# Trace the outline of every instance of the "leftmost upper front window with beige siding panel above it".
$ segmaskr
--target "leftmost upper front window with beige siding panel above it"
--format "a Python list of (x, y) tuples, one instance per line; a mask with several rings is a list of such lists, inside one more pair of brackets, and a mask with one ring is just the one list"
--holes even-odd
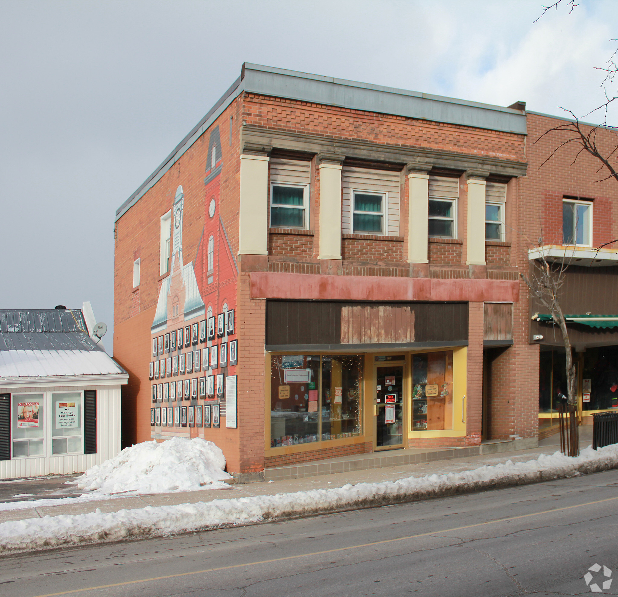
[(310, 163), (271, 158), (270, 227), (309, 228)]

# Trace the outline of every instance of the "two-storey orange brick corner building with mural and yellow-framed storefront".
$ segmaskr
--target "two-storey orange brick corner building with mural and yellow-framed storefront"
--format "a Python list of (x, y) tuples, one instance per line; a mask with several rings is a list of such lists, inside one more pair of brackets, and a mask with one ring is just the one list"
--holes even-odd
[(117, 212), (125, 441), (205, 437), (234, 473), (536, 445), (519, 107), (243, 65)]

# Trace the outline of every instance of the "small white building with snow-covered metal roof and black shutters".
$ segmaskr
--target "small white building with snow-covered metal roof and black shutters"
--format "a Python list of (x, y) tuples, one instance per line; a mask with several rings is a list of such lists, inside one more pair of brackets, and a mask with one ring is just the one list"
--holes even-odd
[(95, 324), (90, 303), (0, 310), (0, 479), (80, 473), (120, 452), (129, 374)]

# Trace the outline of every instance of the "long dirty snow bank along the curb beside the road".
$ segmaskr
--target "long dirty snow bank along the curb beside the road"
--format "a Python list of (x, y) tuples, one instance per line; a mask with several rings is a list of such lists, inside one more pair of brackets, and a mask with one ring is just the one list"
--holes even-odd
[(577, 458), (556, 452), (536, 460), (446, 475), (409, 477), (384, 483), (358, 483), (275, 496), (213, 500), (197, 504), (148, 506), (120, 512), (28, 518), (0, 524), (0, 553), (101, 543), (127, 538), (173, 535), (222, 526), (246, 525), (397, 504), (428, 497), (451, 496), (484, 489), (538, 483), (618, 468), (618, 444), (599, 450), (590, 447)]

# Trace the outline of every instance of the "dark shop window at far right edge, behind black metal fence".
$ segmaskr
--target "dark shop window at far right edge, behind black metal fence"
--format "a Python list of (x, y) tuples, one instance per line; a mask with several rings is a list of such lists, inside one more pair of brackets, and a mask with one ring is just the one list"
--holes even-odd
[(588, 348), (583, 353), (582, 377), (583, 399), (590, 393), (583, 410), (618, 408), (618, 346)]

